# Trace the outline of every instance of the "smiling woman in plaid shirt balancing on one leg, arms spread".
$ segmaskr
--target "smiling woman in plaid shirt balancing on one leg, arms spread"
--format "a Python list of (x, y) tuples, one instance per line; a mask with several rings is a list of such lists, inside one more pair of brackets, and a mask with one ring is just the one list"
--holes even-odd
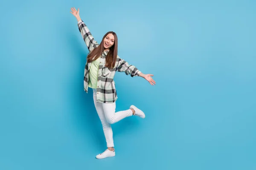
[(113, 132), (111, 124), (119, 122), (128, 116), (139, 116), (145, 118), (143, 111), (131, 105), (128, 110), (116, 112), (116, 88), (113, 80), (116, 71), (125, 72), (131, 77), (143, 77), (151, 85), (156, 84), (152, 79), (152, 74), (143, 74), (134, 65), (121, 59), (117, 55), (117, 36), (113, 31), (107, 32), (102, 38), (101, 43), (96, 42), (85, 23), (81, 20), (76, 8), (70, 11), (77, 21), (79, 31), (89, 50), (87, 62), (84, 69), (84, 91), (88, 93), (88, 87), (93, 89), (93, 101), (99, 119), (102, 122), (107, 147), (103, 153), (96, 156), (103, 159), (115, 156)]

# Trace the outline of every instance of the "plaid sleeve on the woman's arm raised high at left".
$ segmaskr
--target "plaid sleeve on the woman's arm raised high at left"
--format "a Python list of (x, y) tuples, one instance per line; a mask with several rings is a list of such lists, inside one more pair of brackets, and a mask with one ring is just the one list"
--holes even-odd
[(92, 51), (97, 46), (99, 46), (99, 43), (94, 40), (94, 37), (90, 33), (90, 30), (85, 25), (83, 20), (80, 20), (77, 25), (78, 25), (79, 31), (84, 39), (84, 42), (87, 45), (89, 52)]

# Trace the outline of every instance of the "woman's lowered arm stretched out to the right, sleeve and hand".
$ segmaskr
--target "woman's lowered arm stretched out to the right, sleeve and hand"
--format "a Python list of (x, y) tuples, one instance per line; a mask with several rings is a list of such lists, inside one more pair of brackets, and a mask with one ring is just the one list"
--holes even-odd
[(126, 75), (131, 74), (131, 77), (140, 76), (140, 77), (143, 77), (144, 79), (146, 79), (151, 85), (156, 84), (156, 82), (151, 77), (151, 76), (154, 76), (153, 74), (143, 74), (134, 65), (130, 65), (124, 59), (119, 60), (118, 65), (117, 65), (117, 71), (125, 72)]

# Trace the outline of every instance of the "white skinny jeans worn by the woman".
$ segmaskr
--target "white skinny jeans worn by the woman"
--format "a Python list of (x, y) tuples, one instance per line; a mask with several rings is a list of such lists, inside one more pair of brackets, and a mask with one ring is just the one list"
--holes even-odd
[(131, 109), (116, 112), (116, 102), (113, 103), (98, 103), (96, 102), (96, 89), (93, 88), (93, 101), (99, 119), (102, 122), (104, 135), (107, 142), (107, 147), (114, 147), (113, 132), (110, 124), (119, 122), (125, 117), (132, 116)]

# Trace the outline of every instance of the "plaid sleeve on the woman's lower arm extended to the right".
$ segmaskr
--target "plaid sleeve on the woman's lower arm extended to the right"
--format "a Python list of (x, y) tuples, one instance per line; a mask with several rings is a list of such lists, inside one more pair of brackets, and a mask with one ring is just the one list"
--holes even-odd
[(139, 74), (141, 73), (141, 71), (139, 71), (134, 65), (130, 65), (124, 59), (119, 60), (118, 66), (117, 66), (117, 71), (125, 72), (126, 75), (130, 74), (131, 77), (139, 76)]

